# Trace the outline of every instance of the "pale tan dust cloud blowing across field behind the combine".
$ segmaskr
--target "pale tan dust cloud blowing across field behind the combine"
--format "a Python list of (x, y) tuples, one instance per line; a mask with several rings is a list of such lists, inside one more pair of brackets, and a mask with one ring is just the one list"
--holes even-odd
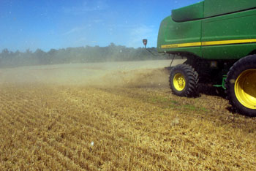
[[(176, 60), (173, 64), (181, 64)], [(170, 60), (23, 66), (0, 69), (0, 84), (56, 84), (70, 86), (167, 85)]]

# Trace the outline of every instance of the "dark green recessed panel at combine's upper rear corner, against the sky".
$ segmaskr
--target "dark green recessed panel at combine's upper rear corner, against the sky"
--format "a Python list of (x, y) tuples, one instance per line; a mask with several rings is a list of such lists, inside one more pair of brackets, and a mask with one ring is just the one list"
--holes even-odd
[(203, 18), (203, 1), (180, 9), (172, 10), (172, 18), (177, 22)]

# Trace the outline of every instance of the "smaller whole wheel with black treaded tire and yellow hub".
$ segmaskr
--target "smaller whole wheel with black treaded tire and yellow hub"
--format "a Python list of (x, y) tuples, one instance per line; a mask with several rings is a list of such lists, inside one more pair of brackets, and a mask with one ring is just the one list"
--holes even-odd
[(197, 96), (198, 74), (192, 66), (179, 64), (170, 70), (170, 89), (177, 96)]

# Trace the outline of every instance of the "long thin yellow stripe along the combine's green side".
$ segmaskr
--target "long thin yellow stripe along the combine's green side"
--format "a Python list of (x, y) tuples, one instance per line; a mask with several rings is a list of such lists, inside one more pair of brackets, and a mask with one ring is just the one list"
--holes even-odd
[(210, 45), (230, 45), (230, 44), (240, 44), (240, 43), (255, 43), (256, 39), (233, 39), (233, 40), (220, 40), (220, 41), (210, 41), (210, 42), (191, 42), (191, 43), (181, 43), (172, 45), (162, 45), (162, 49), (167, 48), (178, 48), (178, 47), (195, 47), (195, 46), (210, 46)]

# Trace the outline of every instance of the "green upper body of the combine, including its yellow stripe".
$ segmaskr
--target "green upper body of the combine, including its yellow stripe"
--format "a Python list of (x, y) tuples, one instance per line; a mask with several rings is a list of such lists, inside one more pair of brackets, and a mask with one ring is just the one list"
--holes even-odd
[(162, 20), (157, 49), (205, 59), (239, 59), (256, 50), (255, 0), (205, 0)]

